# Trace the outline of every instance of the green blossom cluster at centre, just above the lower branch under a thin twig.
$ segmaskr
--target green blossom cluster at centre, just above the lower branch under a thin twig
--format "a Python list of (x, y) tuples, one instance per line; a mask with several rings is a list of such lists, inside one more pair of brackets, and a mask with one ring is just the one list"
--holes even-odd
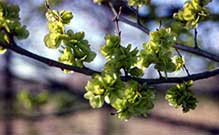
[(126, 75), (141, 77), (143, 70), (137, 67), (138, 49), (131, 50), (131, 44), (127, 47), (121, 45), (120, 37), (116, 35), (107, 35), (106, 44), (100, 48), (100, 52), (106, 57), (104, 73), (116, 73), (120, 75), (122, 69)]

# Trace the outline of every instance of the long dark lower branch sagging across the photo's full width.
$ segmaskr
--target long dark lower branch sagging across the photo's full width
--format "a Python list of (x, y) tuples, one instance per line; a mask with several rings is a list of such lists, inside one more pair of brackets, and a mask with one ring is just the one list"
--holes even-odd
[[(39, 62), (42, 62), (44, 64), (47, 64), (49, 66), (52, 67), (56, 67), (56, 68), (60, 68), (60, 69), (67, 69), (67, 70), (72, 70), (78, 73), (82, 73), (85, 75), (93, 75), (95, 73), (100, 74), (101, 72), (98, 71), (94, 71), (92, 69), (89, 68), (79, 68), (79, 67), (75, 67), (75, 66), (71, 66), (71, 65), (66, 65), (42, 56), (39, 56), (37, 54), (34, 54), (32, 52), (29, 52), (17, 45), (6, 45), (5, 43), (0, 43), (1, 46), (3, 46), (4, 48), (10, 49), (18, 54), (27, 56), (29, 58), (32, 58), (34, 60), (37, 60)], [(147, 84), (161, 84), (161, 83), (180, 83), (183, 81), (189, 81), (189, 80), (201, 80), (201, 79), (205, 79), (205, 78), (209, 78), (215, 75), (219, 74), (219, 69), (215, 69), (213, 71), (206, 71), (206, 72), (202, 72), (202, 73), (198, 73), (198, 74), (193, 74), (190, 76), (186, 76), (186, 77), (168, 77), (168, 78), (159, 78), (159, 79), (143, 79), (143, 78), (135, 78), (135, 77), (131, 77), (131, 76), (122, 76), (121, 79), (123, 81), (128, 81), (128, 80), (135, 80), (138, 81), (139, 83), (147, 83)]]

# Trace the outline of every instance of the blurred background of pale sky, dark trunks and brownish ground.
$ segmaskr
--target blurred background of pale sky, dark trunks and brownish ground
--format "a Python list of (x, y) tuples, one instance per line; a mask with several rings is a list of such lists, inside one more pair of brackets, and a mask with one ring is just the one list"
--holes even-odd
[[(3, 1), (3, 0), (1, 0)], [(31, 52), (57, 60), (59, 52), (48, 49), (43, 43), (47, 33), (44, 0), (4, 0), (20, 6), (20, 16), (27, 25), (30, 36), (17, 44)], [(114, 0), (118, 8), (122, 2)], [(168, 26), (174, 12), (185, 0), (152, 0), (150, 6), (140, 8), (142, 22), (150, 30)], [(102, 70), (104, 57), (99, 47), (104, 44), (106, 33), (114, 33), (113, 14), (107, 5), (98, 6), (92, 0), (50, 0), (54, 9), (71, 10), (74, 19), (67, 29), (85, 31), (86, 38), (97, 57), (86, 64), (94, 70)], [(198, 42), (202, 49), (219, 55), (219, 0), (209, 5), (209, 21), (198, 27)], [(128, 7), (123, 16), (135, 20)], [(148, 36), (140, 30), (120, 23), (122, 44), (141, 48)], [(180, 43), (192, 46), (193, 31), (182, 31)], [(185, 56), (190, 73), (199, 73), (218, 67), (218, 63), (192, 54)], [(111, 115), (113, 110), (104, 106), (91, 109), (83, 98), (85, 85), (90, 79), (79, 73), (64, 74), (11, 51), (0, 56), (0, 135), (219, 135), (219, 76), (195, 82), (193, 92), (199, 101), (195, 110), (183, 113), (171, 108), (164, 99), (169, 84), (156, 85), (157, 100), (148, 118), (135, 117), (124, 122)], [(169, 76), (184, 76), (184, 71)], [(150, 66), (144, 77), (157, 78)]]

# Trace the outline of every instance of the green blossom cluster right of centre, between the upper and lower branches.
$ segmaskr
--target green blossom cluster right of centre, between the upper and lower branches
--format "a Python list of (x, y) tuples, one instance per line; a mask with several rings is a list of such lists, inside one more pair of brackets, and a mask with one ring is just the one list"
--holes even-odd
[(155, 64), (159, 71), (174, 72), (184, 65), (181, 56), (172, 57), (172, 47), (175, 45), (176, 36), (170, 28), (162, 28), (150, 33), (150, 40), (143, 44), (144, 49), (140, 52), (140, 64), (149, 67)]

